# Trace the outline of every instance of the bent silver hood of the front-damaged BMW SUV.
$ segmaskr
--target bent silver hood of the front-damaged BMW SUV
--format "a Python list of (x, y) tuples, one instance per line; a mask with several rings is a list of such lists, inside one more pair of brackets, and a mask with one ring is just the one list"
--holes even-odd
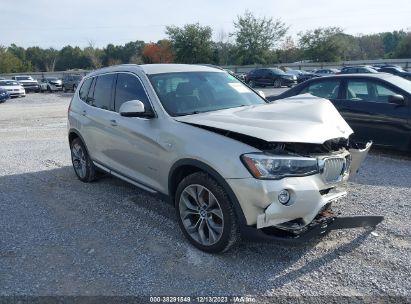
[(353, 133), (329, 100), (310, 94), (270, 104), (231, 108), (175, 120), (240, 133), (267, 142), (322, 144)]

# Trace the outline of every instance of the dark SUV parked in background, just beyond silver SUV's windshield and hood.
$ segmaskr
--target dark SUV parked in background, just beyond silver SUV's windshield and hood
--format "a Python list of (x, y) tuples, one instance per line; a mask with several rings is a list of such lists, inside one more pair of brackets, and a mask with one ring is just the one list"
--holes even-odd
[(297, 76), (286, 74), (277, 68), (263, 68), (250, 71), (245, 77), (245, 82), (252, 88), (257, 86), (291, 87), (297, 84)]

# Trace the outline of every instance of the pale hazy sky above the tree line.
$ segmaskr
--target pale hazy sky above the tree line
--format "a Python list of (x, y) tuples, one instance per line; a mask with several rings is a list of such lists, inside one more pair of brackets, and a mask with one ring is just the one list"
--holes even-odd
[(246, 10), (280, 18), (289, 35), (324, 26), (346, 33), (411, 31), (411, 0), (0, 0), (0, 45), (60, 49), (91, 42), (158, 41), (167, 25), (199, 22), (211, 26), (214, 39), (233, 31)]

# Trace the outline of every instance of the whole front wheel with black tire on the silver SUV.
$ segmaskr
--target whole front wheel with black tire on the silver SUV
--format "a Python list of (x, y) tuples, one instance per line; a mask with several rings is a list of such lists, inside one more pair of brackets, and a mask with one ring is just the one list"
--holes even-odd
[[(200, 200), (190, 193), (200, 193), (195, 195)], [(181, 231), (198, 249), (221, 253), (240, 241), (233, 203), (208, 174), (196, 172), (185, 177), (177, 187), (174, 202)]]

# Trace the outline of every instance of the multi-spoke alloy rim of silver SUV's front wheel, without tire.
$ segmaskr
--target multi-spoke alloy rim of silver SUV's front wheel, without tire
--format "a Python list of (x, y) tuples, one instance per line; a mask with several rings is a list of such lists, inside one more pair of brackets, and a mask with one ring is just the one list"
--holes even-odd
[(180, 195), (181, 221), (188, 234), (203, 246), (211, 246), (223, 234), (224, 218), (214, 194), (201, 185), (189, 185)]

